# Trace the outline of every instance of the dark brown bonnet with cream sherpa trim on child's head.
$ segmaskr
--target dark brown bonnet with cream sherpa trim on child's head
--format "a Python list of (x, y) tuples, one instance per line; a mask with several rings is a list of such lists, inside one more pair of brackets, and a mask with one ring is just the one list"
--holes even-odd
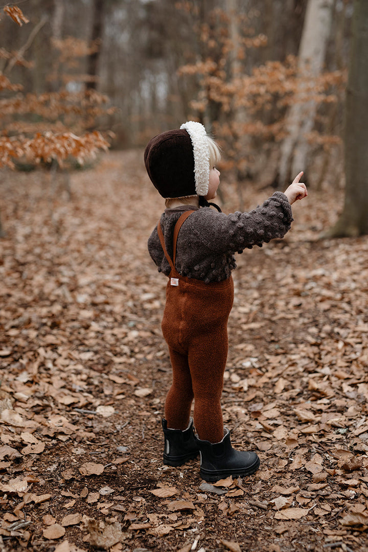
[(206, 196), (210, 174), (206, 129), (201, 123), (187, 121), (180, 129), (154, 136), (146, 146), (145, 166), (165, 199)]

